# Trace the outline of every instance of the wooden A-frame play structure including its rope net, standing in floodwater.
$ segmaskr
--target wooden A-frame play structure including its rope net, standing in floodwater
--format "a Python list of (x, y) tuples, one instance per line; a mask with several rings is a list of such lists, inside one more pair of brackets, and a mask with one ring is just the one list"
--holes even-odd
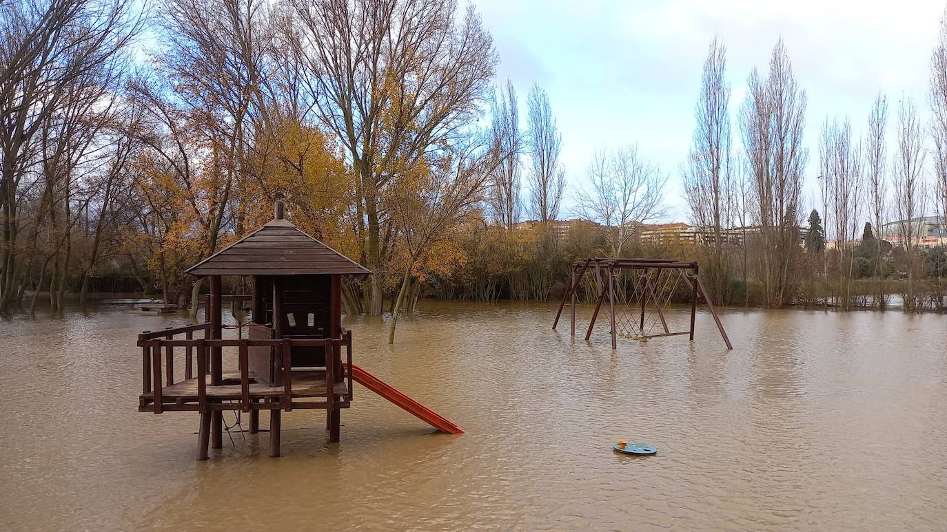
[[(659, 336), (688, 335), (694, 339), (694, 322), (697, 316), (697, 300), (703, 298), (710, 315), (720, 330), (727, 349), (733, 349), (730, 339), (724, 331), (724, 324), (713, 307), (710, 297), (701, 283), (700, 267), (696, 261), (676, 261), (672, 259), (612, 259), (590, 257), (576, 261), (572, 265), (572, 276), (563, 300), (552, 323), (555, 330), (562, 317), (565, 302), (571, 298), (571, 335), (576, 335), (576, 291), (587, 271), (591, 271), (595, 281), (595, 311), (589, 320), (585, 339), (592, 336), (599, 310), (604, 301), (608, 301), (609, 333), (612, 336), (612, 349), (617, 349), (619, 335), (647, 340)], [(671, 331), (664, 316), (664, 309), (678, 288), (678, 283), (687, 286), (690, 294), (690, 328), (687, 331)], [(661, 329), (653, 331), (658, 323)]]

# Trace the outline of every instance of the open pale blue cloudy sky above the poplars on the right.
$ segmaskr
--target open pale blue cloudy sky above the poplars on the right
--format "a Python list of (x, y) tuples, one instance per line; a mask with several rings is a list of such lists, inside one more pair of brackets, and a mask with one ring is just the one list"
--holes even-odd
[[(817, 190), (818, 132), (827, 115), (849, 116), (860, 135), (874, 96), (882, 91), (889, 102), (889, 131), (904, 95), (916, 98), (926, 120), (928, 64), (945, 2), (474, 0), (474, 5), (500, 56), (498, 82), (509, 78), (517, 89), (521, 119), (533, 81), (549, 94), (571, 189), (585, 179), (597, 147), (637, 143), (641, 155), (670, 175), (670, 218), (684, 221), (678, 168), (687, 157), (714, 33), (727, 48), (731, 114), (743, 101), (750, 70), (765, 72), (773, 44), (783, 37), (809, 98), (803, 139), (810, 151), (808, 209)], [(737, 147), (736, 124), (733, 131)], [(889, 143), (889, 152), (893, 147)]]

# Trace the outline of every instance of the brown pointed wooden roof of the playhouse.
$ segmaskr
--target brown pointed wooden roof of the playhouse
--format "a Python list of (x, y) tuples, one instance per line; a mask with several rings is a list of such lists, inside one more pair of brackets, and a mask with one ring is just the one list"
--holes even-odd
[(342, 274), (364, 278), (371, 270), (299, 231), (289, 220), (276, 218), (191, 266), (188, 273), (196, 276)]

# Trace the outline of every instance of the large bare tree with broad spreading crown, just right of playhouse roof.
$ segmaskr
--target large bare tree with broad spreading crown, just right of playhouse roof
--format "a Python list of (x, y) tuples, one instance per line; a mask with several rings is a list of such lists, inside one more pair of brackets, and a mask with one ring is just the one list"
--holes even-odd
[[(456, 0), (291, 3), (286, 39), (313, 113), (357, 176), (362, 262), (381, 274), (384, 189), (480, 112), (496, 65), (492, 39), (473, 7), (456, 16)], [(368, 283), (368, 313), (380, 316), (383, 276)]]

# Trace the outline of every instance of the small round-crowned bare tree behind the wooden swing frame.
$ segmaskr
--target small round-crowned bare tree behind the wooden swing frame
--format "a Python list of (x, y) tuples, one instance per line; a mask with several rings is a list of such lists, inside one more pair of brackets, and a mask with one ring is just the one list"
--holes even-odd
[(612, 256), (620, 257), (641, 225), (663, 215), (667, 176), (638, 156), (637, 146), (599, 150), (588, 169), (590, 190), (576, 194), (576, 214), (604, 226)]

